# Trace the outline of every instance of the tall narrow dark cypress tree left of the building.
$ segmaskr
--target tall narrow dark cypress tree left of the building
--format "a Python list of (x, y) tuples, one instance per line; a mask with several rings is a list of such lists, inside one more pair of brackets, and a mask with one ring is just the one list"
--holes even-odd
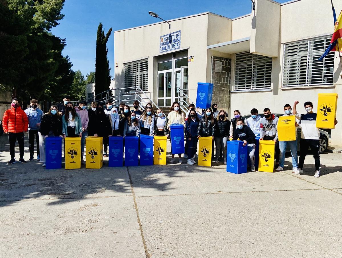
[(96, 59), (95, 59), (95, 95), (104, 92), (109, 89), (110, 86), (110, 68), (109, 60), (107, 58), (107, 42), (112, 31), (110, 28), (105, 35), (105, 31), (102, 28), (102, 23), (97, 28), (96, 39)]

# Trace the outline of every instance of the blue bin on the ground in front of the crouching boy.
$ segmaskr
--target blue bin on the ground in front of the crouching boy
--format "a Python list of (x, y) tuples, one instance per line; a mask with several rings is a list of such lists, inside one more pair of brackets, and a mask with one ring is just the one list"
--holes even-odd
[(247, 145), (243, 141), (227, 141), (227, 172), (241, 174), (247, 172)]

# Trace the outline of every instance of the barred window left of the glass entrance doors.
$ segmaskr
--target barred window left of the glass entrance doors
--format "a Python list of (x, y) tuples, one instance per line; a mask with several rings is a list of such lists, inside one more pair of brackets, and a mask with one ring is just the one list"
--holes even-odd
[(148, 90), (148, 59), (124, 64), (124, 86)]

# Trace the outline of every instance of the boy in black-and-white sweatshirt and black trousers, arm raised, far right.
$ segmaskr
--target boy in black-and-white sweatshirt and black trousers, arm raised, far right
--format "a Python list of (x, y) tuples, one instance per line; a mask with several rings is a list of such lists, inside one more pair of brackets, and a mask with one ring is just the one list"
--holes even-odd
[[(297, 113), (297, 104), (299, 101), (295, 101), (293, 104), (293, 115), (296, 116), (298, 120), (301, 121), (301, 139), (299, 141), (300, 154), (299, 154), (299, 164), (298, 170), (295, 171), (295, 174), (303, 173), (303, 166), (307, 151), (310, 147), (314, 160), (315, 160), (315, 177), (319, 177), (319, 166), (320, 166), (320, 157), (319, 157), (319, 129), (316, 127), (316, 119), (317, 113), (312, 111), (313, 104), (310, 101), (304, 103), (304, 108), (306, 114)], [(337, 120), (335, 119), (335, 125), (337, 124)]]

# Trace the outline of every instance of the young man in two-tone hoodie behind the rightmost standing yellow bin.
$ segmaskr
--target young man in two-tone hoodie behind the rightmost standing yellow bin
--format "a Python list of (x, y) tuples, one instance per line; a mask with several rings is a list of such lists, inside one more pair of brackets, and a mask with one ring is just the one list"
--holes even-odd
[(273, 140), (275, 142), (276, 167), (279, 165), (278, 118), (269, 108), (264, 108), (264, 117), (260, 120), (260, 140)]

